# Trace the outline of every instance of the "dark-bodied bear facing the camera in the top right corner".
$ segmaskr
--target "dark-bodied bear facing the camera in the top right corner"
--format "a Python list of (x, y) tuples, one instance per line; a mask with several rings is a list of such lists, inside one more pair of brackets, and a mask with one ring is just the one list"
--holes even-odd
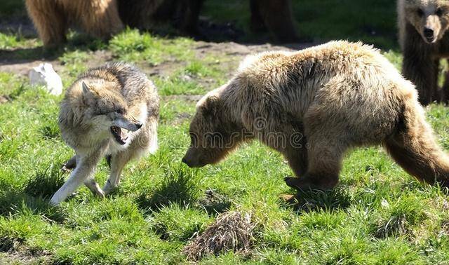
[(449, 1), (398, 0), (398, 28), (403, 76), (415, 83), (422, 104), (441, 100), (438, 68), (449, 56)]

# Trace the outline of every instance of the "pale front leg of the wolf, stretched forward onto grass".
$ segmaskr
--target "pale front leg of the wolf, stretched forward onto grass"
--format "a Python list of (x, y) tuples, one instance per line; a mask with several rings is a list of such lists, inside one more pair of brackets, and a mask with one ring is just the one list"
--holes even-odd
[(98, 161), (100, 161), (100, 151), (95, 151), (88, 156), (79, 156), (76, 163), (75, 170), (70, 174), (69, 179), (56, 191), (51, 197), (51, 205), (58, 205), (65, 200), (70, 194), (74, 193), (83, 182), (91, 179), (95, 168), (97, 168)]

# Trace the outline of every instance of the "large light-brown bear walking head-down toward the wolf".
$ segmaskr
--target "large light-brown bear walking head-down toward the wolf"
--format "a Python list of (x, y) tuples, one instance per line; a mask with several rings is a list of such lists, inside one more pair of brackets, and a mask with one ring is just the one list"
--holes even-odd
[(383, 144), (410, 175), (449, 186), (449, 157), (438, 147), (417, 101), (377, 50), (335, 41), (297, 52), (246, 58), (227, 84), (197, 104), (182, 161), (213, 164), (257, 139), (281, 152), (296, 189), (331, 189), (344, 153)]

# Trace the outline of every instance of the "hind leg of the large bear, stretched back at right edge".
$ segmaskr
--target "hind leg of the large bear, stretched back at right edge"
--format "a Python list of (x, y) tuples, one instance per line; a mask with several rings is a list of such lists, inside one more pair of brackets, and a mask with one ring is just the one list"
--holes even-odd
[(410, 175), (428, 184), (449, 186), (449, 156), (438, 146), (415, 96), (403, 100), (398, 128), (384, 147)]

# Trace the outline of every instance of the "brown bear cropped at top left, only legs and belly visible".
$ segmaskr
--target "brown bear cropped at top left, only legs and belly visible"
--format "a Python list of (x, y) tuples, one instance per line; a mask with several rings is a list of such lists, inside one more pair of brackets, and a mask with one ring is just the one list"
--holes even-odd
[(116, 0), (26, 0), (25, 4), (47, 47), (65, 42), (72, 23), (102, 39), (123, 29)]

